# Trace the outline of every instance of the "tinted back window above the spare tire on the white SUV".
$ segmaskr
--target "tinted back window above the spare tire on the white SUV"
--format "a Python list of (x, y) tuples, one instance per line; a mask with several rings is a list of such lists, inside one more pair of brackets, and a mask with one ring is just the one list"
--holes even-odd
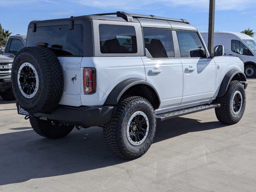
[(82, 56), (83, 55), (83, 26), (74, 25), (74, 30), (69, 30), (68, 25), (37, 27), (28, 30), (26, 46), (36, 46), (38, 42), (48, 43), (57, 56)]

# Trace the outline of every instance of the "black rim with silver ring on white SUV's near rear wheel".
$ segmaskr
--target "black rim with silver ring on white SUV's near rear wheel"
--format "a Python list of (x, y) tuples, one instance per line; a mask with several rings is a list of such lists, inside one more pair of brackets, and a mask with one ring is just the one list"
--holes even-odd
[(147, 115), (137, 111), (131, 115), (126, 126), (126, 136), (130, 144), (138, 146), (147, 138), (149, 131)]

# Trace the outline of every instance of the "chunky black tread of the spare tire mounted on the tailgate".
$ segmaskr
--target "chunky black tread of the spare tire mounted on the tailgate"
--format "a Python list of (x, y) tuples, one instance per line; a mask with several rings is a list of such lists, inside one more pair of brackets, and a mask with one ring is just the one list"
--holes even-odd
[[(23, 48), (22, 50), (20, 50), (20, 52), (18, 52), (16, 58), (14, 59), (14, 64), (16, 59), (19, 59), (18, 56), (23, 53), (31, 54), (38, 62), (43, 80), (43, 88), (40, 96), (40, 102), (38, 102), (33, 108), (26, 108), (25, 106), (23, 107), (25, 108), (25, 110), (33, 113), (49, 113), (53, 109), (55, 109), (57, 104), (60, 102), (63, 94), (64, 80), (61, 64), (57, 56), (51, 50), (43, 47)], [(20, 102), (19, 98), (16, 97), (16, 99), (18, 102)]]

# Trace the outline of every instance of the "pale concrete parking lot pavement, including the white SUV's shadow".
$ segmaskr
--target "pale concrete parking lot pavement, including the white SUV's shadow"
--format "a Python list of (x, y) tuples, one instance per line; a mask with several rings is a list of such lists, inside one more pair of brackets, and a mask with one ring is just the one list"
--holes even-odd
[(248, 82), (238, 124), (219, 123), (214, 110), (159, 123), (150, 150), (132, 161), (109, 152), (100, 127), (49, 140), (0, 99), (0, 191), (255, 192), (256, 79)]

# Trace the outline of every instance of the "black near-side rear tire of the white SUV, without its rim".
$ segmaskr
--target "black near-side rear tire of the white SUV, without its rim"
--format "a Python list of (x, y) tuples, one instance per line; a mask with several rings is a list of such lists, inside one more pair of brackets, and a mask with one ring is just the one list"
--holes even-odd
[[(132, 114), (144, 112), (149, 121), (149, 132), (143, 143), (134, 146), (127, 139), (126, 126)], [(150, 148), (156, 133), (156, 118), (152, 104), (145, 98), (131, 96), (121, 100), (111, 120), (103, 126), (106, 146), (113, 154), (125, 159), (141, 157)]]

